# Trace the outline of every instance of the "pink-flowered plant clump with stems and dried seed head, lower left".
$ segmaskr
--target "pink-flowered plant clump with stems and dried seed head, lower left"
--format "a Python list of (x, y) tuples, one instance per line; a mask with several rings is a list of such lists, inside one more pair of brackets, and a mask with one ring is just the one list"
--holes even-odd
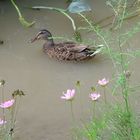
[(10, 99), (5, 101), (4, 80), (0, 81), (0, 86), (2, 94), (2, 99), (0, 101), (0, 109), (2, 110), (2, 114), (0, 116), (0, 139), (12, 140), (13, 134), (15, 132), (15, 123), (20, 104), (19, 97), (24, 96), (25, 94), (21, 90), (16, 90), (12, 93)]

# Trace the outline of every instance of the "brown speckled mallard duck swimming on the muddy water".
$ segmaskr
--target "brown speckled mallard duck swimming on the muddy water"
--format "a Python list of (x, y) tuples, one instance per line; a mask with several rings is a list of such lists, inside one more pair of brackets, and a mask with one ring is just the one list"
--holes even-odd
[(93, 58), (95, 54), (99, 52), (95, 47), (89, 48), (89, 46), (76, 44), (74, 42), (54, 43), (52, 34), (46, 29), (40, 30), (31, 42), (36, 40), (45, 40), (43, 51), (48, 54), (49, 57), (58, 60), (82, 61)]

